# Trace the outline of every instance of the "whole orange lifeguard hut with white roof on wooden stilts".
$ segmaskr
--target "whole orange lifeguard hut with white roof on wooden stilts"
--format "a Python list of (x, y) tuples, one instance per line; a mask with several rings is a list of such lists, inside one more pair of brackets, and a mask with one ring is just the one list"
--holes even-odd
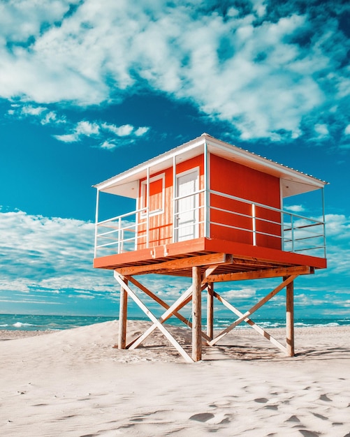
[[(320, 190), (326, 182), (252, 154), (203, 133), (200, 137), (97, 184), (94, 267), (114, 270), (121, 286), (119, 348), (136, 348), (156, 328), (188, 362), (201, 360), (202, 343), (214, 346), (242, 321), (286, 355), (294, 355), (293, 281), (326, 268), (323, 217), (284, 209), (284, 198)], [(136, 200), (132, 212), (99, 221), (99, 193)], [(167, 304), (135, 279), (140, 274), (190, 276), (192, 284)], [(214, 291), (214, 283), (281, 277), (268, 295), (242, 313)], [(160, 318), (147, 308), (138, 288), (165, 309)], [(256, 325), (250, 316), (286, 288), (286, 344)], [(203, 332), (202, 292), (207, 290), (207, 329)], [(141, 293), (141, 295), (143, 295)], [(127, 296), (153, 325), (126, 344)], [(214, 336), (213, 301), (238, 316)], [(192, 302), (192, 323), (180, 313)], [(192, 329), (192, 355), (163, 323), (171, 316)]]

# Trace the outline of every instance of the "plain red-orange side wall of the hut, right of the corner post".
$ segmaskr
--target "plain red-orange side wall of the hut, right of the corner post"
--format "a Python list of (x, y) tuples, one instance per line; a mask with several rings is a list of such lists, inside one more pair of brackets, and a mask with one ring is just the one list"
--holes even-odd
[[(280, 207), (279, 178), (277, 177), (266, 175), (258, 170), (214, 155), (210, 155), (210, 175), (210, 188), (214, 191), (221, 191), (270, 207)], [(212, 238), (253, 244), (251, 204), (212, 194), (210, 206), (235, 213), (229, 214), (217, 209), (211, 210), (210, 221), (221, 224), (211, 225), (210, 235)], [(256, 230), (263, 232), (263, 234), (256, 234), (257, 246), (280, 249), (281, 226), (259, 220), (259, 218), (264, 218), (280, 223), (279, 212), (256, 207), (256, 218)], [(228, 228), (224, 225), (231, 225), (235, 228)], [(277, 237), (264, 234), (277, 235)]]

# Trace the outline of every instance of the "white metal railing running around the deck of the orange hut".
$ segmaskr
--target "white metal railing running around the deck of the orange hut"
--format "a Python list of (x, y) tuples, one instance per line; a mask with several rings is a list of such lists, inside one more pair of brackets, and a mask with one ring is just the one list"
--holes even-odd
[[(170, 242), (183, 241), (184, 239), (191, 239), (196, 237), (210, 237), (206, 235), (210, 232), (212, 226), (227, 228), (228, 230), (237, 230), (247, 232), (251, 235), (250, 242), (254, 246), (259, 245), (259, 236), (270, 237), (277, 239), (279, 247), (282, 251), (304, 253), (313, 255), (319, 258), (326, 258), (326, 237), (325, 237), (325, 223), (316, 218), (309, 218), (293, 214), (292, 212), (269, 207), (258, 202), (251, 202), (251, 200), (238, 198), (233, 195), (221, 193), (219, 191), (207, 191), (211, 196), (225, 198), (227, 200), (235, 200), (242, 205), (248, 205), (251, 214), (242, 212), (235, 212), (225, 207), (214, 207), (207, 205), (208, 214), (205, 211), (204, 205), (200, 205), (200, 193), (204, 190), (196, 191), (183, 198), (196, 196), (194, 207), (186, 211), (177, 211), (177, 202), (182, 198), (173, 199), (175, 211), (173, 212), (173, 223), (166, 223), (173, 229), (172, 236), (169, 237)], [(221, 202), (222, 204), (222, 202)], [(275, 212), (275, 220), (263, 218), (261, 212)], [(232, 220), (226, 223), (218, 223), (213, 221), (210, 216), (214, 212), (221, 212), (232, 216)], [(143, 220), (141, 221), (141, 213)], [(179, 214), (189, 214), (194, 219), (191, 221), (184, 220), (179, 222)], [(266, 214), (265, 214), (266, 215)], [(206, 217), (209, 217), (209, 225), (206, 225)], [(278, 219), (277, 219), (278, 217)], [(237, 225), (237, 219), (246, 218), (247, 226)], [(138, 224), (139, 222), (139, 224)], [(229, 223), (227, 223), (229, 222)], [(139, 235), (139, 226), (142, 225), (142, 235)], [(268, 230), (261, 230), (261, 228), (268, 228)], [(273, 232), (273, 228), (276, 230)], [(194, 231), (196, 229), (196, 231)], [(260, 229), (260, 230), (259, 230)], [(184, 232), (182, 232), (184, 231)], [(188, 234), (186, 233), (188, 232)], [(97, 256), (110, 255), (114, 253), (124, 253), (127, 251), (135, 251), (138, 249), (138, 244), (142, 242), (143, 247), (150, 246), (150, 214), (147, 208), (136, 209), (133, 212), (122, 214), (110, 218), (108, 220), (96, 223), (95, 233), (95, 258)]]

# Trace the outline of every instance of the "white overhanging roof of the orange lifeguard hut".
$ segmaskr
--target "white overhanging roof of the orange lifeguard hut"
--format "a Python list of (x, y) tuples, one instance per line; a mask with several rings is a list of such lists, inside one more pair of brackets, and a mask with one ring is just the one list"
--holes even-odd
[(203, 154), (205, 144), (211, 154), (278, 177), (281, 180), (282, 196), (284, 198), (314, 191), (323, 188), (323, 186), (327, 184), (327, 182), (321, 181), (321, 179), (316, 179), (293, 168), (275, 163), (268, 158), (240, 149), (240, 147), (229, 145), (226, 142), (217, 140), (203, 133), (200, 137), (182, 146), (171, 149), (164, 154), (150, 159), (150, 161), (146, 161), (130, 170), (126, 170), (126, 172), (111, 177), (100, 184), (96, 184), (94, 187), (103, 193), (137, 198), (139, 181), (147, 177), (147, 169), (150, 169), (150, 176), (152, 176), (155, 173), (166, 170), (166, 168), (170, 168), (173, 165), (174, 158), (176, 163), (194, 158), (194, 156)]

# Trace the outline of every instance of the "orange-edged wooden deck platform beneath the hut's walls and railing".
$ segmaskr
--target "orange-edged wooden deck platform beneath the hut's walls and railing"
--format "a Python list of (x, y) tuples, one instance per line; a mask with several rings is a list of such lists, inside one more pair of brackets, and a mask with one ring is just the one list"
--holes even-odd
[[(210, 265), (217, 265), (215, 274), (251, 272), (252, 279), (254, 272), (261, 270), (327, 267), (324, 258), (207, 238), (94, 259), (95, 268), (117, 270), (123, 276), (152, 273), (191, 277), (192, 267), (205, 269)], [(229, 279), (227, 276), (227, 279), (221, 279), (223, 280), (235, 279)]]

